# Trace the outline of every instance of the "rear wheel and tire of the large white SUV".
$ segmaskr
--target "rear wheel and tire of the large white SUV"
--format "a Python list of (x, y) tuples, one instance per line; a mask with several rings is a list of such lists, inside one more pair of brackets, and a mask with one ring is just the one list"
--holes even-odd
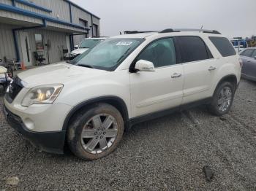
[[(231, 93), (231, 95), (230, 94), (224, 95), (225, 92), (227, 93), (227, 90), (228, 92)], [(211, 101), (211, 104), (208, 105), (209, 112), (217, 116), (222, 116), (223, 114), (227, 114), (230, 111), (230, 108), (233, 104), (235, 91), (236, 91), (235, 85), (233, 85), (230, 82), (222, 82), (220, 85), (218, 85), (218, 87), (214, 92), (214, 96)], [(230, 101), (227, 102), (227, 100), (230, 100)], [(226, 101), (225, 106), (223, 104), (220, 104), (222, 101)]]

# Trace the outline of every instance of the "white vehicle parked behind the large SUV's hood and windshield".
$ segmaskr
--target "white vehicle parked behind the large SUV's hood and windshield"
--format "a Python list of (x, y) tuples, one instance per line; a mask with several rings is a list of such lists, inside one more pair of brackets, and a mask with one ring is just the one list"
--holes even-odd
[(100, 42), (105, 41), (105, 37), (102, 38), (89, 38), (89, 39), (83, 39), (80, 44), (75, 46), (75, 50), (70, 52), (69, 54), (69, 60), (72, 61), (74, 58), (76, 58), (78, 55), (83, 54), (83, 52), (86, 52), (91, 47), (94, 47), (95, 45), (99, 44)]

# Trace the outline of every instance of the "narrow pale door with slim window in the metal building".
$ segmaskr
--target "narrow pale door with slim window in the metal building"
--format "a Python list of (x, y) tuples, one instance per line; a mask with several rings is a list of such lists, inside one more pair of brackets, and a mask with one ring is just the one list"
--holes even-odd
[(25, 66), (31, 66), (31, 49), (29, 43), (29, 34), (26, 31), (20, 31), (20, 46)]

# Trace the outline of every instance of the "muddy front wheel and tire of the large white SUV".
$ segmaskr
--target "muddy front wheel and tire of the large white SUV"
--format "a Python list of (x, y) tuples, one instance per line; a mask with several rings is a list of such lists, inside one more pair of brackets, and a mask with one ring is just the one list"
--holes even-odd
[(72, 118), (67, 142), (77, 157), (97, 160), (116, 149), (123, 133), (124, 120), (118, 109), (109, 104), (94, 104)]

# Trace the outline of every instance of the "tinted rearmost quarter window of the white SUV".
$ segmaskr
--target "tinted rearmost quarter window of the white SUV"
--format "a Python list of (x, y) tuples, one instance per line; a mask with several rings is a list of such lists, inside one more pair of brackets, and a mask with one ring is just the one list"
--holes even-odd
[(217, 47), (223, 57), (236, 55), (236, 51), (230, 41), (225, 37), (210, 36), (209, 39)]

